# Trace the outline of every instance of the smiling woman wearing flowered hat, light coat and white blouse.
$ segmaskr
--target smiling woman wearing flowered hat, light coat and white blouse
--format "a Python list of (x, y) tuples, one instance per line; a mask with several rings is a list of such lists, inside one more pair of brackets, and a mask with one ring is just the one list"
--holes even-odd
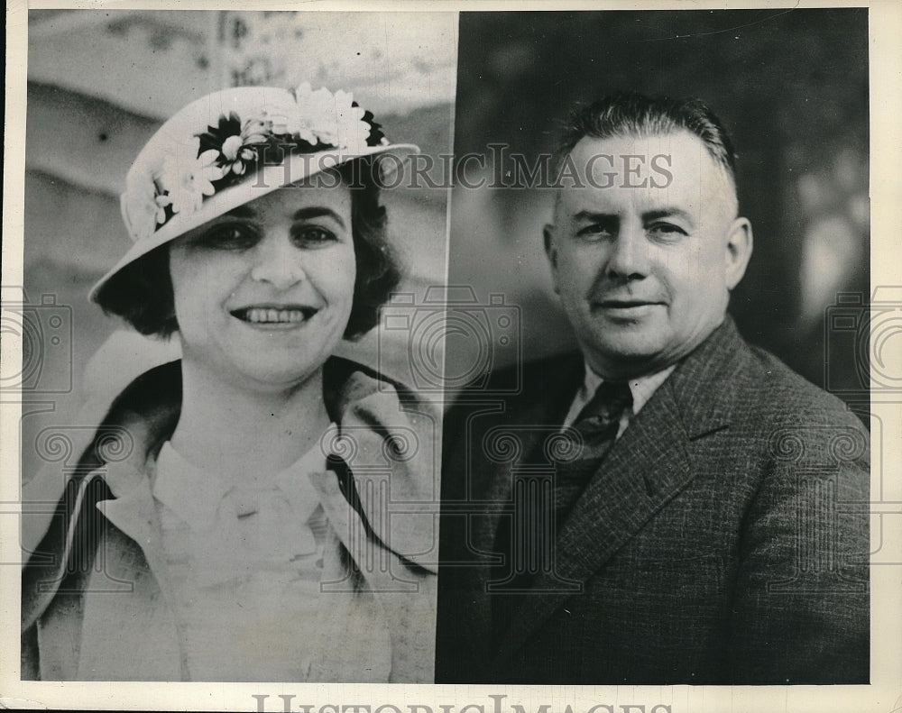
[(398, 281), (394, 148), (302, 85), (204, 97), (139, 154), (92, 298), (182, 356), (115, 399), (41, 533), (23, 678), (431, 681), (435, 418), (332, 356)]

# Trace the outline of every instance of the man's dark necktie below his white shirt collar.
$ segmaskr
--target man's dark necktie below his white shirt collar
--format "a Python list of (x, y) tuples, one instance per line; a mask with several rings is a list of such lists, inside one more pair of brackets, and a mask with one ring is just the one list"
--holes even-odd
[(576, 416), (572, 427), (576, 432), (575, 438), (582, 441), (582, 451), (574, 461), (557, 465), (554, 502), (558, 530), (576, 498), (579, 498), (611, 449), (620, 429), (621, 416), (631, 406), (629, 384), (625, 381), (603, 381), (593, 398)]

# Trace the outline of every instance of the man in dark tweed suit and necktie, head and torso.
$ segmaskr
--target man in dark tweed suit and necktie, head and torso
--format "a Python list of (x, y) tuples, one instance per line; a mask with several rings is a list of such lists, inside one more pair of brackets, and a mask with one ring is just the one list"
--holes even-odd
[(572, 118), (544, 235), (580, 352), (446, 418), (437, 680), (867, 682), (868, 434), (726, 314), (752, 231), (722, 124)]

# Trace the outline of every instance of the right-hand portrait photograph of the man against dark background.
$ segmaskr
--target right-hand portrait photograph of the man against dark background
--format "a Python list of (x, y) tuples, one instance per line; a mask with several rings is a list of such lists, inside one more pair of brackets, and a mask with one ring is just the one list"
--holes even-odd
[(868, 683), (867, 9), (460, 26), (438, 680)]

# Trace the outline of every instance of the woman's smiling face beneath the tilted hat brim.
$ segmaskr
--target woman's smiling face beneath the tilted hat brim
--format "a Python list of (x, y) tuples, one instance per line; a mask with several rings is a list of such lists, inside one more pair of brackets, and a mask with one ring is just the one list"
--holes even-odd
[(170, 248), (183, 359), (248, 388), (318, 371), (354, 302), (351, 194), (298, 184), (186, 233)]

